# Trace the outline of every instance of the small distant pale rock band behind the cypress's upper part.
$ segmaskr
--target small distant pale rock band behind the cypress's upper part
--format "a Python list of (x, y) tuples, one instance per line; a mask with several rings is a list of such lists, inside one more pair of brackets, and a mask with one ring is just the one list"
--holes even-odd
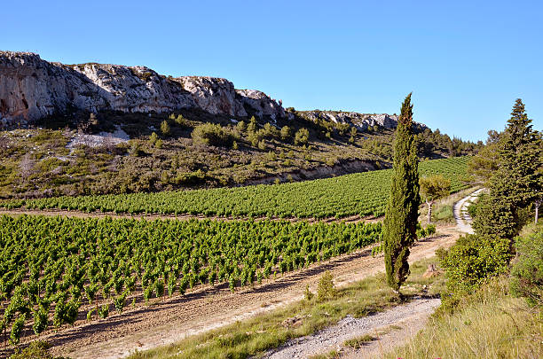
[[(385, 129), (396, 129), (397, 115), (387, 113), (347, 113), (340, 111), (300, 111), (302, 117), (311, 120), (333, 121), (335, 123), (348, 123), (364, 131), (368, 127), (378, 126)], [(294, 116), (294, 114), (293, 114)], [(426, 129), (426, 125), (414, 122), (420, 129)]]

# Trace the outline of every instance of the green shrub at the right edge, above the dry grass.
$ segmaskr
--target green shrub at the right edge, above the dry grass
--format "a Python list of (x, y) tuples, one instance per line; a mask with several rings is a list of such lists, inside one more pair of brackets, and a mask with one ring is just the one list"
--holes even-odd
[(530, 305), (543, 304), (543, 226), (515, 238), (517, 257), (511, 269), (511, 293)]

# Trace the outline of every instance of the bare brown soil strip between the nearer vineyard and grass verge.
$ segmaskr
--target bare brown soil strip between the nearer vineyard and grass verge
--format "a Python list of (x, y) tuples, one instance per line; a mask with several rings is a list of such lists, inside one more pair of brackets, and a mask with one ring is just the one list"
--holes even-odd
[[(40, 211), (41, 213), (41, 211)], [(438, 247), (453, 245), (459, 236), (454, 226), (439, 227), (437, 235), (415, 244), (410, 261), (431, 257)], [(122, 314), (49, 332), (40, 339), (50, 342), (56, 355), (72, 358), (119, 358), (135, 350), (174, 343), (188, 336), (233, 324), (303, 298), (305, 285), (315, 290), (321, 274), (331, 270), (337, 286), (348, 285), (384, 270), (382, 255), (372, 256), (371, 246), (330, 261), (314, 264), (231, 293), (227, 285), (202, 287), (184, 296), (152, 300)], [(25, 342), (36, 339), (28, 336)], [(0, 351), (0, 356), (5, 355)]]

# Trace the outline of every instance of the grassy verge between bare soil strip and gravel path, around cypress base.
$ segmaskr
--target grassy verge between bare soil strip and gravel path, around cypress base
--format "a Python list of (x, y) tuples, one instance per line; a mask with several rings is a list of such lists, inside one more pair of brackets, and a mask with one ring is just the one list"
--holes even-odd
[[(444, 277), (422, 278), (430, 258), (413, 264), (412, 273), (407, 278), (403, 293), (421, 293), (422, 286), (429, 286), (429, 293), (441, 290)], [(405, 289), (407, 288), (407, 291)], [(356, 284), (343, 287), (333, 299), (319, 302), (301, 300), (284, 308), (255, 316), (251, 319), (228, 325), (223, 328), (187, 338), (167, 347), (138, 352), (130, 359), (141, 358), (246, 358), (262, 355), (266, 350), (279, 347), (288, 339), (317, 332), (336, 324), (348, 314), (355, 317), (366, 316), (382, 311), (399, 303), (396, 293), (386, 285), (384, 275), (367, 277)], [(287, 325), (286, 320), (297, 318), (295, 325)], [(334, 357), (334, 353), (328, 353)]]

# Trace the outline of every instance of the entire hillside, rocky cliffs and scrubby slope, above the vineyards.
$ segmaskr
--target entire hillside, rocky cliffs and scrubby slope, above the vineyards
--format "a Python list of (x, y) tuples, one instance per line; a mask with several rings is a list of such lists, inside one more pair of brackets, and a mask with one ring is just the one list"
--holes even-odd
[[(281, 183), (390, 167), (397, 116), (283, 109), (219, 78), (0, 52), (0, 198)], [(476, 144), (415, 124), (421, 158)]]

